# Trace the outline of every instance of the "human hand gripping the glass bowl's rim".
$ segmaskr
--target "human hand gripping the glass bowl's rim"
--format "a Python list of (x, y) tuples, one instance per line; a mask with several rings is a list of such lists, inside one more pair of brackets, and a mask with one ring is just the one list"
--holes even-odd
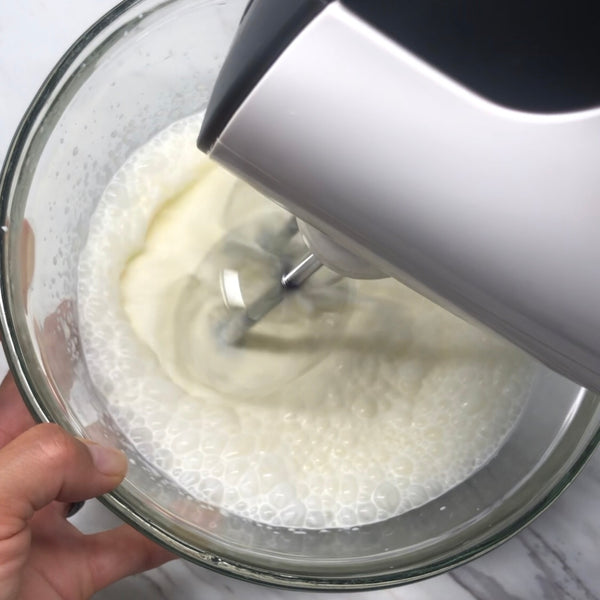
[(127, 470), (114, 449), (57, 425), (35, 425), (15, 382), (0, 385), (0, 600), (82, 600), (175, 558), (128, 525), (84, 535), (72, 503), (116, 487)]

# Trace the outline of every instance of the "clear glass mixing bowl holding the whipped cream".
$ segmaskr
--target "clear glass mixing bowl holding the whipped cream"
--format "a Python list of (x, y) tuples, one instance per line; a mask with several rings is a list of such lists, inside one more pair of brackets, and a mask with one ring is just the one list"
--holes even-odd
[(191, 499), (119, 430), (79, 343), (77, 264), (111, 176), (171, 122), (203, 109), (244, 0), (128, 0), (50, 74), (1, 180), (2, 329), (32, 412), (122, 448), (131, 465), (103, 502), (184, 558), (267, 584), (365, 589), (464, 563), (524, 527), (589, 457), (599, 398), (539, 366), (515, 430), (483, 469), (421, 508), (337, 530), (265, 527)]

